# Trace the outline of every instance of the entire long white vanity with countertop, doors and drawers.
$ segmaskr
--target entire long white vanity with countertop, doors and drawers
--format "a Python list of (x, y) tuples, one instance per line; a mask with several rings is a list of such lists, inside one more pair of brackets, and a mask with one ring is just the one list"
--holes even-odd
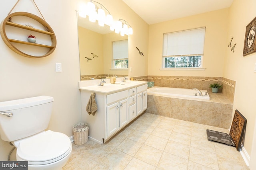
[[(84, 86), (84, 84), (80, 86), (82, 121), (89, 124), (88, 137), (99, 143), (105, 143), (137, 117), (138, 105), (142, 113), (147, 106), (146, 83), (134, 81), (126, 82), (124, 85), (106, 83), (104, 86)], [(93, 92), (98, 109), (94, 115), (89, 115), (86, 106)], [(137, 96), (143, 96), (139, 102)]]

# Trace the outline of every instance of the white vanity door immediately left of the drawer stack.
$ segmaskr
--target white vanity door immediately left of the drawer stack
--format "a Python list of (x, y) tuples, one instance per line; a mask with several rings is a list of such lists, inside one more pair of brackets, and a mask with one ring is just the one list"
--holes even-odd
[(129, 102), (128, 99), (119, 102), (119, 125), (120, 128), (129, 122)]

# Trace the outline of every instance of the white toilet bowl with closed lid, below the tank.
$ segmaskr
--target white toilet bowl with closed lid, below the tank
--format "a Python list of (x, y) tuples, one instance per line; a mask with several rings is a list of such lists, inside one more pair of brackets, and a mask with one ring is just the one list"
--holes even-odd
[(12, 143), (16, 160), (28, 161), (28, 170), (61, 170), (72, 150), (68, 136), (50, 130)]

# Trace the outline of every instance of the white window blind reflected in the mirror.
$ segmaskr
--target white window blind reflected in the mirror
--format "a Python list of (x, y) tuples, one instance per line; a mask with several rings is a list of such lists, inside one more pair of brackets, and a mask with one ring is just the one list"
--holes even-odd
[(113, 42), (113, 59), (128, 59), (128, 40)]

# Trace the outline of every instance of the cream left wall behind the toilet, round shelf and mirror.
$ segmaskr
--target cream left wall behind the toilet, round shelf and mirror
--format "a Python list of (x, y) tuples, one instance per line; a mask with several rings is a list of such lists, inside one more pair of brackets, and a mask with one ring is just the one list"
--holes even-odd
[[(48, 95), (54, 97), (52, 117), (48, 129), (73, 135), (72, 125), (81, 121), (81, 102), (78, 31), (76, 10), (79, 0), (44, 0), (36, 5), (51, 25), (57, 38), (57, 47), (48, 57), (32, 59), (16, 54), (0, 39), (0, 102)], [(0, 21), (4, 20), (17, 0), (1, 1)], [(147, 55), (148, 25), (121, 0), (98, 0), (111, 12), (114, 19), (124, 19), (134, 29), (129, 41), (129, 58), (135, 64), (138, 57), (136, 45), (143, 47)], [(40, 16), (31, 0), (21, 0), (13, 12), (30, 12)], [(140, 33), (140, 31), (142, 31)], [(143, 40), (143, 41), (142, 41)], [(140, 56), (139, 56), (140, 57)], [(141, 57), (140, 69), (133, 74), (147, 75), (147, 56)], [(62, 64), (62, 72), (55, 72), (55, 63)], [(140, 73), (138, 73), (140, 72)], [(12, 146), (0, 139), (0, 160), (7, 160)]]

